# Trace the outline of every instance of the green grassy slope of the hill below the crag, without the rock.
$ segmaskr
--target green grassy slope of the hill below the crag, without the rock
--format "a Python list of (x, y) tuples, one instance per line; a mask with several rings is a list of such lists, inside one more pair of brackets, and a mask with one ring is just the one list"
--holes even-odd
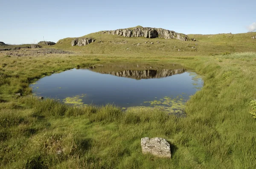
[[(100, 34), (96, 32), (83, 37), (93, 37), (96, 42), (86, 46), (71, 46), (75, 38), (61, 39), (55, 48), (80, 51), (84, 54), (163, 54), (165, 56), (208, 56), (222, 53), (234, 53), (244, 51), (256, 51), (256, 39), (251, 39), (255, 33), (244, 34), (215, 34), (200, 35), (190, 34), (193, 41), (180, 41), (177, 39), (148, 39), (145, 37), (123, 37), (111, 34)], [(123, 42), (126, 42), (122, 44)], [(101, 43), (103, 42), (103, 43)], [(121, 42), (121, 44), (115, 44)], [(145, 42), (153, 42), (150, 43)], [(159, 43), (157, 43), (159, 42)], [(137, 45), (140, 43), (140, 45)], [(127, 49), (128, 48), (128, 49)], [(180, 50), (180, 51), (178, 51)]]

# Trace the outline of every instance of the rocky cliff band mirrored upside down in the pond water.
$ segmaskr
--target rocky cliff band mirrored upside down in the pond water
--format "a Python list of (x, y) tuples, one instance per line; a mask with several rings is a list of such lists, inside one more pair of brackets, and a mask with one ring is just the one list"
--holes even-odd
[[(93, 69), (93, 67), (91, 68)], [(127, 77), (132, 79), (154, 79), (172, 76), (185, 72), (185, 68), (175, 70), (123, 70), (123, 71), (111, 71), (111, 72), (99, 72), (103, 74), (111, 74), (114, 76)]]

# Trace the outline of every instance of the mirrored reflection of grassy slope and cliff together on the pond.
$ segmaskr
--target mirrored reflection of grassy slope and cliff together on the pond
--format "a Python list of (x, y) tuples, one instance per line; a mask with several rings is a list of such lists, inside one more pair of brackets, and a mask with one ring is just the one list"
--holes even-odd
[[(167, 69), (169, 68), (169, 69)], [(132, 79), (153, 79), (163, 78), (185, 72), (185, 68), (180, 65), (141, 65), (141, 64), (116, 64), (99, 65), (89, 67), (90, 70), (102, 74), (111, 74), (119, 77)], [(156, 70), (154, 70), (156, 69)]]

